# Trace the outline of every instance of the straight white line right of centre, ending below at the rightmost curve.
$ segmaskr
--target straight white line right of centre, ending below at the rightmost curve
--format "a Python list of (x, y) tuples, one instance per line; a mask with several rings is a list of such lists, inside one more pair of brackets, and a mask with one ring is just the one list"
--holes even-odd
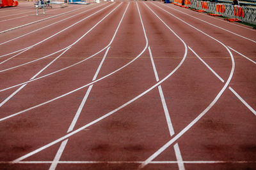
[[(156, 76), (156, 81), (159, 81), (158, 74), (157, 74), (157, 71), (156, 71), (156, 66), (155, 66), (155, 63), (154, 63), (154, 59), (153, 59), (153, 56), (152, 56), (150, 46), (148, 46), (148, 52), (149, 52), (151, 63), (152, 63), (154, 73), (155, 73), (155, 76)], [(167, 122), (167, 125), (168, 125), (170, 136), (173, 136), (173, 134), (175, 134), (175, 133), (174, 133), (173, 125), (172, 125), (172, 120), (170, 118), (170, 113), (169, 113), (168, 108), (166, 106), (166, 102), (165, 102), (165, 99), (164, 99), (164, 94), (163, 94), (163, 90), (162, 90), (161, 85), (159, 85), (158, 91), (159, 91), (159, 95), (161, 97), (161, 102), (162, 102), (162, 105), (163, 105), (164, 115), (165, 115), (165, 118), (166, 118), (166, 122)]]

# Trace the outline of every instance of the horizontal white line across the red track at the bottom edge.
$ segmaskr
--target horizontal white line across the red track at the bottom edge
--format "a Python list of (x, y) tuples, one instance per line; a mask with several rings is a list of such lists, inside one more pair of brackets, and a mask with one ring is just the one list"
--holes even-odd
[[(20, 161), (15, 164), (52, 164), (53, 161)], [(81, 161), (81, 160), (63, 160), (58, 164), (141, 164), (143, 161)], [(255, 164), (253, 160), (184, 160), (184, 164)], [(152, 161), (149, 164), (178, 164), (176, 160)], [(12, 162), (0, 161), (0, 164), (12, 164)]]

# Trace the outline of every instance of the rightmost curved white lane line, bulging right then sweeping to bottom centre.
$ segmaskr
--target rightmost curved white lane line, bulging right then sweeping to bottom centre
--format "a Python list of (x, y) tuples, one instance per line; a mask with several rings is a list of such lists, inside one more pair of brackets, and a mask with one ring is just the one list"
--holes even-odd
[[(147, 4), (145, 4), (146, 6), (148, 6)], [(158, 6), (157, 6), (158, 7)], [(149, 8), (149, 6), (148, 6)], [(159, 7), (158, 7), (159, 8)], [(150, 9), (150, 8), (149, 8)], [(163, 10), (162, 8), (160, 8), (161, 10)], [(151, 10), (151, 9), (150, 9)], [(166, 10), (163, 10), (166, 11)], [(169, 13), (168, 11), (166, 11), (166, 13)], [(172, 15), (172, 13), (169, 13), (170, 15)], [(184, 22), (185, 24), (188, 24), (187, 22), (185, 22), (184, 20), (176, 17), (175, 15), (172, 15), (173, 17), (179, 19), (181, 22)], [(192, 25), (188, 24), (189, 26), (193, 27)], [(230, 83), (232, 76), (234, 74), (234, 69), (235, 69), (235, 61), (234, 61), (234, 57), (232, 55), (232, 53), (230, 52), (230, 50), (227, 48), (227, 46), (225, 46), (223, 43), (221, 43), (220, 41), (218, 41), (218, 39), (212, 38), (211, 36), (209, 36), (208, 34), (206, 34), (203, 31), (200, 31), (199, 29), (197, 29), (196, 27), (193, 27), (194, 29), (196, 29), (199, 32), (202, 32), (202, 34), (205, 34), (205, 36), (208, 36), (211, 39), (214, 39), (215, 41), (217, 41), (218, 43), (220, 43), (222, 46), (224, 46), (228, 53), (230, 54), (231, 60), (232, 60), (232, 69), (230, 71), (230, 75), (228, 76), (228, 80), (226, 81), (225, 85), (223, 86), (223, 88), (221, 89), (221, 91), (218, 93), (218, 95), (214, 98), (214, 100), (211, 102), (211, 104), (209, 104), (209, 106), (207, 106), (207, 108), (205, 108), (204, 111), (202, 111), (202, 113), (200, 113), (198, 115), (198, 117), (196, 117), (191, 123), (189, 123), (184, 129), (182, 129), (182, 131), (180, 131), (176, 136), (174, 136), (172, 139), (170, 139), (170, 141), (168, 141), (166, 144), (164, 144), (161, 148), (159, 148), (159, 150), (157, 150), (154, 154), (152, 154), (150, 157), (148, 157), (147, 160), (145, 160), (145, 162), (143, 162), (143, 164), (140, 165), (139, 168), (143, 168), (145, 166), (147, 166), (147, 164), (149, 162), (151, 162), (152, 160), (154, 160), (157, 156), (159, 156), (162, 152), (164, 152), (164, 150), (166, 150), (166, 148), (168, 148), (170, 145), (172, 145), (175, 141), (177, 141), (177, 139), (179, 139), (184, 133), (186, 133), (191, 127), (193, 127), (193, 125), (196, 124), (196, 122), (198, 122), (198, 120), (200, 120), (200, 118), (202, 118), (207, 111), (209, 111), (212, 106), (218, 101), (218, 99), (220, 99), (221, 95), (223, 94), (223, 92), (227, 89), (228, 84)]]

